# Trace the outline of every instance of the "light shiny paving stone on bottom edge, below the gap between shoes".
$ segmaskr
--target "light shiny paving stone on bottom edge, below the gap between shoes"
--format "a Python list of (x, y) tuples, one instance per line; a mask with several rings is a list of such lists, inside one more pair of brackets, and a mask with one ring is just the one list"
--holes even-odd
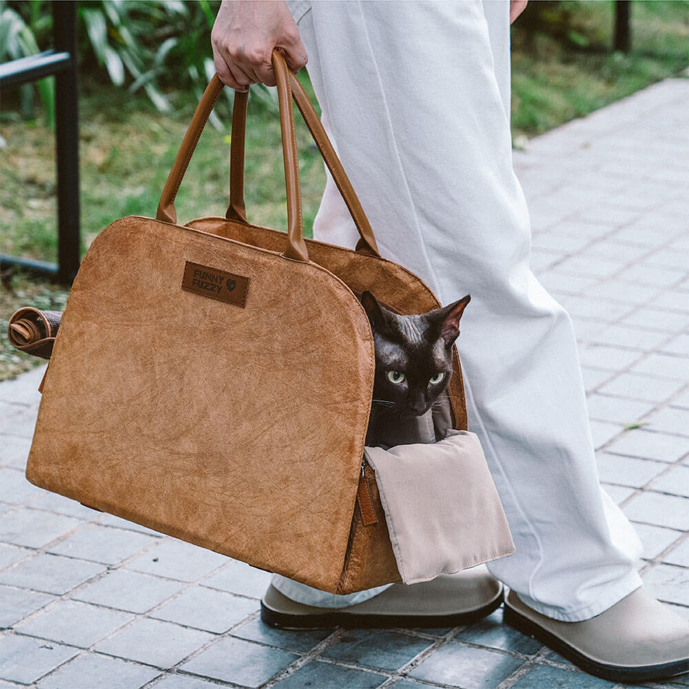
[(495, 689), (523, 664), (524, 660), (511, 655), (450, 642), (409, 672), (409, 677), (462, 689)]

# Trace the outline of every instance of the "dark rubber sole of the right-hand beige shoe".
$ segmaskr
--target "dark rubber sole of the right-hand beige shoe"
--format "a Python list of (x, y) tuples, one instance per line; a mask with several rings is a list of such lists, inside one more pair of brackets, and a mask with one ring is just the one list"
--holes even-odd
[(559, 655), (573, 662), (577, 667), (582, 668), (589, 675), (595, 675), (601, 679), (608, 679), (613, 682), (639, 682), (652, 679), (666, 679), (675, 675), (682, 675), (689, 672), (689, 661), (680, 660), (663, 665), (648, 665), (637, 667), (625, 667), (619, 665), (607, 665), (599, 663), (585, 656), (582, 652), (573, 648), (566, 641), (563, 641), (553, 633), (542, 628), (533, 620), (517, 613), (507, 603), (504, 606), (503, 621), (505, 624), (515, 628), (518, 632), (528, 637), (537, 639), (542, 644), (557, 651)]

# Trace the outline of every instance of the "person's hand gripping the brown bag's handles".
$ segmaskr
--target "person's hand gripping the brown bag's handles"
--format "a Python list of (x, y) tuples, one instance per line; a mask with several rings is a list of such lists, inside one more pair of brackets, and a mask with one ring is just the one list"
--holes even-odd
[(307, 63), (306, 48), (283, 0), (223, 0), (211, 33), (220, 81), (238, 91), (252, 83), (276, 84), (277, 49), (296, 72)]

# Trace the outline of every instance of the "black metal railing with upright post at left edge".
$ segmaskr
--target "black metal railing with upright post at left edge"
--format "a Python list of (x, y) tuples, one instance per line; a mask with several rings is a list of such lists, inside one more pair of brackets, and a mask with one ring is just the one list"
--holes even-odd
[(0, 88), (55, 77), (57, 263), (0, 256), (0, 267), (17, 265), (70, 285), (81, 260), (76, 2), (54, 0), (52, 21), (53, 49), (0, 65)]

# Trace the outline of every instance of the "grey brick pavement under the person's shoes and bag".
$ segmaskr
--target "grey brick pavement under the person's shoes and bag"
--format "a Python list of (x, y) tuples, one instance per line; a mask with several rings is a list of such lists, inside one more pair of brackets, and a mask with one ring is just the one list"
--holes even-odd
[[(689, 80), (668, 79), (515, 154), (533, 268), (575, 320), (601, 480), (639, 529), (646, 585), (687, 617), (688, 101)], [(615, 686), (500, 612), (423, 631), (263, 626), (266, 573), (24, 480), (41, 374), (0, 384), (0, 689)]]

